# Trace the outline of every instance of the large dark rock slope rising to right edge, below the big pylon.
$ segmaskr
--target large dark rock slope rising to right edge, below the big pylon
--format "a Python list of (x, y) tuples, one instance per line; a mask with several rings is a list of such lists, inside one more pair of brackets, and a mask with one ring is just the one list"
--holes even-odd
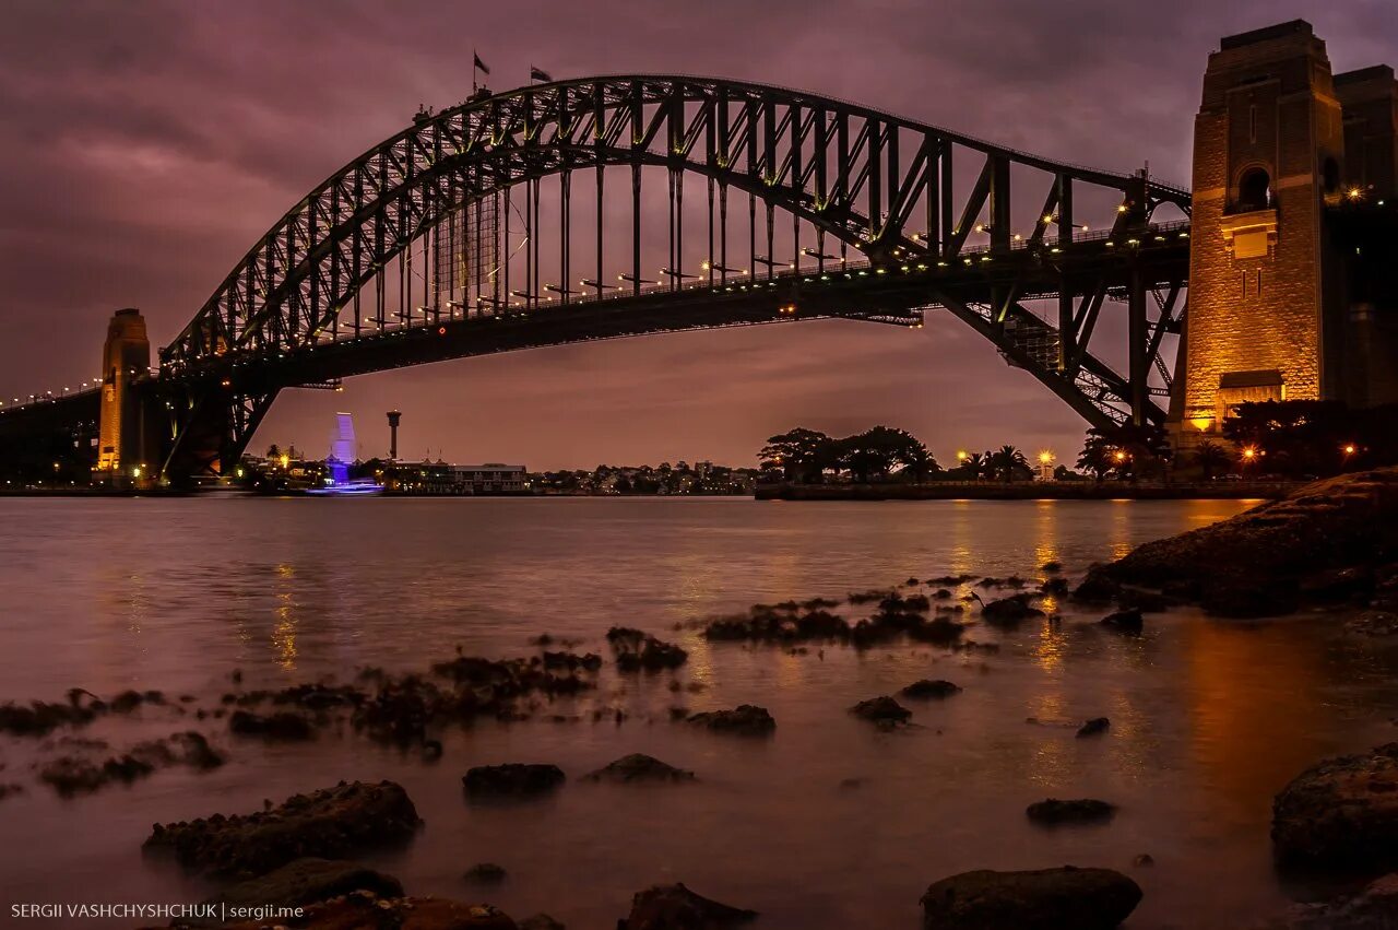
[(1194, 592), (1223, 617), (1269, 617), (1306, 604), (1363, 599), (1370, 572), (1398, 551), (1398, 467), (1309, 484), (1180, 536), (1093, 566), (1083, 585)]

